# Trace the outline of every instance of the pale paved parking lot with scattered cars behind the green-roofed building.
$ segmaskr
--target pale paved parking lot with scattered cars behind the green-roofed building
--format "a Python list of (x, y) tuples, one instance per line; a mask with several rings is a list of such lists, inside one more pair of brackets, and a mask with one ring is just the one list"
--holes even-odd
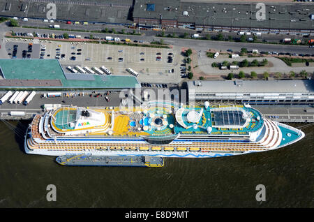
[[(140, 82), (177, 83), (181, 80), (179, 66), (184, 57), (180, 54), (180, 47), (161, 49), (50, 40), (38, 42), (33, 43), (31, 58), (59, 59), (64, 69), (76, 65), (89, 68), (105, 66), (112, 75), (131, 75), (126, 68), (132, 68), (139, 73), (137, 78)], [(27, 43), (19, 44), (27, 47)]]

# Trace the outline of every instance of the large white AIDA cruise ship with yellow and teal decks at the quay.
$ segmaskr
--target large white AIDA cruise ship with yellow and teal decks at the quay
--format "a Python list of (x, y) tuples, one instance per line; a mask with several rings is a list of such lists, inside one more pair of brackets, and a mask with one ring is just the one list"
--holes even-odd
[(63, 105), (36, 114), (25, 135), (27, 154), (207, 158), (269, 151), (304, 138), (250, 105), (183, 105), (149, 101), (140, 107)]

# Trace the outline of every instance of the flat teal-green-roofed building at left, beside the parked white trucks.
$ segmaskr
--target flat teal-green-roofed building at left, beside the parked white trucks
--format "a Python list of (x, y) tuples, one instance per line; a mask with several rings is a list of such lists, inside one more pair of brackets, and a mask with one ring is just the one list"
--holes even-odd
[(3, 78), (0, 80), (0, 88), (134, 89), (140, 87), (135, 76), (67, 73), (57, 59), (0, 59), (0, 71)]

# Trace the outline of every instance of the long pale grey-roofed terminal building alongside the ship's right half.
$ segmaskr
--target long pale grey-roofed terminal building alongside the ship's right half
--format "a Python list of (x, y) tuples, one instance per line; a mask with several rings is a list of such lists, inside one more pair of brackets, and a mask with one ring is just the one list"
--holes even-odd
[(190, 81), (188, 101), (314, 105), (314, 80)]

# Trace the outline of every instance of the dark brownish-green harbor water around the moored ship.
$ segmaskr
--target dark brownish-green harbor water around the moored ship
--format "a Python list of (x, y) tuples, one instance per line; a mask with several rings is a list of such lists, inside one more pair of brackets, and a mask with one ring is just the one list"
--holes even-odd
[[(314, 126), (274, 151), (110, 168), (66, 167), (55, 156), (25, 154), (28, 124), (0, 121), (0, 207), (314, 207)], [(49, 184), (57, 201), (46, 199)], [(255, 199), (258, 184), (266, 188), (264, 202)]]

